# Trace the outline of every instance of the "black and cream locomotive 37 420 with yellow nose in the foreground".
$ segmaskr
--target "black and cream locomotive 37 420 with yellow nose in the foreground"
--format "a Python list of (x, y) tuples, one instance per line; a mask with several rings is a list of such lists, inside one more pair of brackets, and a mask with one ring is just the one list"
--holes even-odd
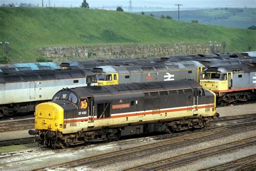
[(65, 148), (120, 136), (201, 128), (218, 117), (215, 94), (193, 80), (65, 88), (35, 109), (39, 143)]

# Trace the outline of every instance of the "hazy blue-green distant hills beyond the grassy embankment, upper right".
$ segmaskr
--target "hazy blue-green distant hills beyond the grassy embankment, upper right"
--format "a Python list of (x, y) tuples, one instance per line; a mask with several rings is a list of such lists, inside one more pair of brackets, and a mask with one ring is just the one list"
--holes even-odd
[[(156, 17), (169, 15), (174, 20), (178, 20), (178, 11), (145, 12), (146, 15), (150, 15), (151, 13)], [(241, 29), (256, 25), (255, 16), (255, 8), (215, 8), (180, 11), (180, 20), (185, 22), (198, 20), (201, 24), (221, 25)]]

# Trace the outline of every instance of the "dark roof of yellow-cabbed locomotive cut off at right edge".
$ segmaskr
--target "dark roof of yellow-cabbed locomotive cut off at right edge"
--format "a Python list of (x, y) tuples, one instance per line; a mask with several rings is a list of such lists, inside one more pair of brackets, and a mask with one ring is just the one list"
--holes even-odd
[(231, 64), (231, 65), (219, 65), (210, 66), (204, 70), (204, 72), (255, 72), (255, 64)]

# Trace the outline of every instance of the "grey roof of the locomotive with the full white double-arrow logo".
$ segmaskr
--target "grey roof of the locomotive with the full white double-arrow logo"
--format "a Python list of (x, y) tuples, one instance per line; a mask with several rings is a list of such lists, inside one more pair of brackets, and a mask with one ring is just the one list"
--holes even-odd
[(136, 65), (119, 65), (119, 66), (99, 66), (93, 69), (93, 72), (98, 73), (115, 73), (129, 74), (139, 72), (157, 72), (157, 71), (170, 71), (170, 70), (181, 70), (181, 69), (196, 69), (199, 66), (204, 66), (198, 61), (179, 61), (171, 62), (167, 61), (164, 63), (151, 62), (151, 63), (140, 63)]

